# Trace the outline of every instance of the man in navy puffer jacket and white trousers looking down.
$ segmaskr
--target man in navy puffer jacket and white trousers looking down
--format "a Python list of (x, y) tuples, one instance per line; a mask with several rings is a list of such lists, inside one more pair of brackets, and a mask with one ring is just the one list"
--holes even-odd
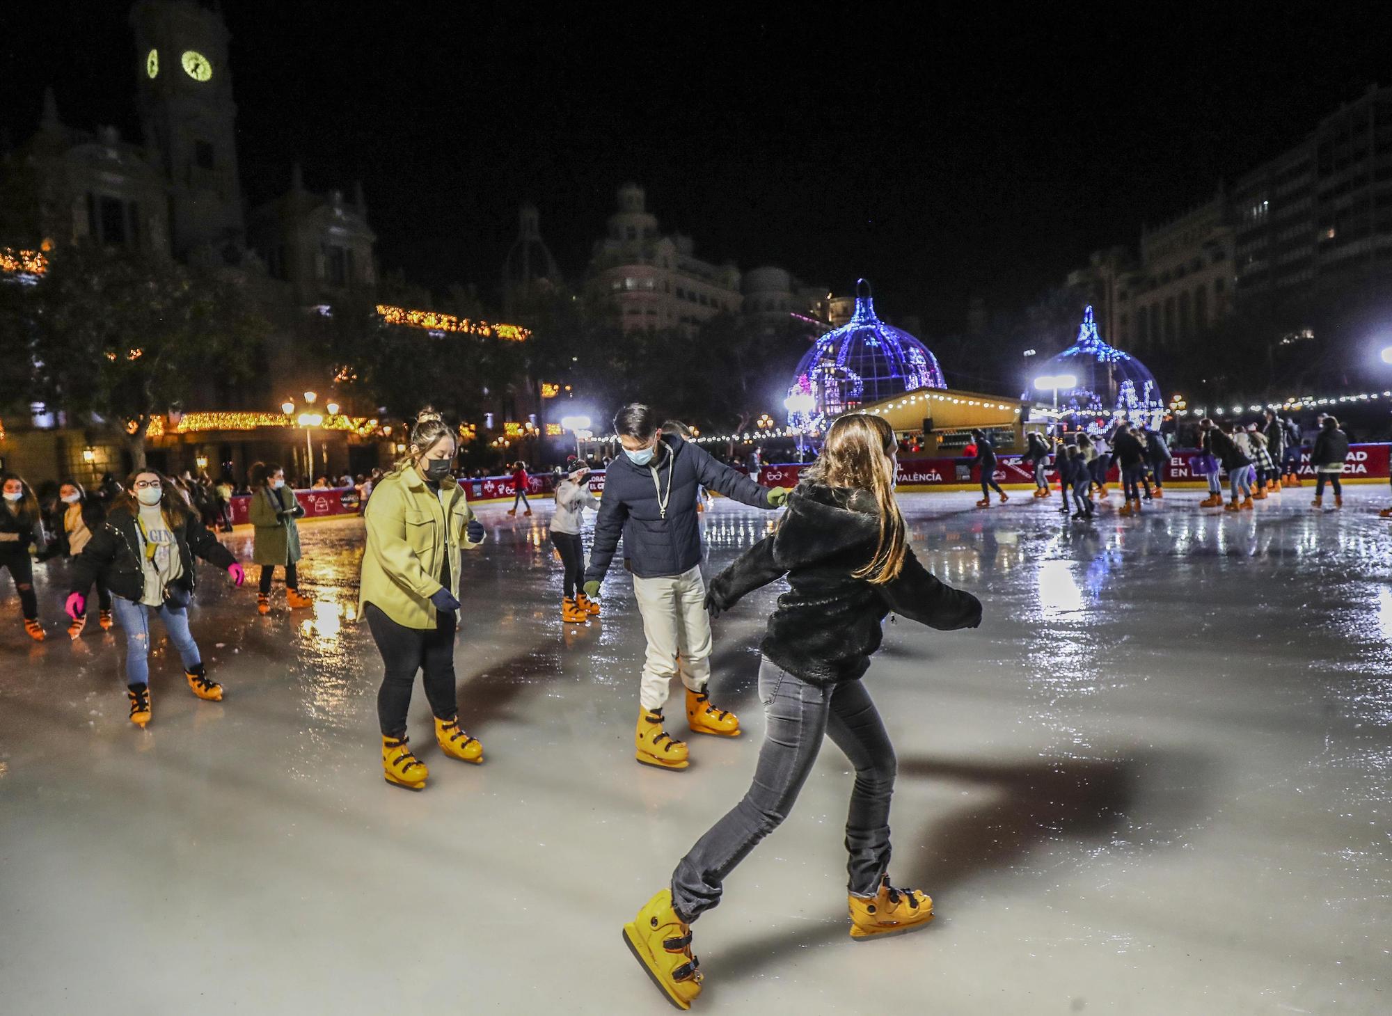
[(781, 508), (788, 490), (760, 487), (700, 447), (660, 433), (660, 426), (657, 413), (639, 402), (624, 406), (614, 418), (624, 454), (604, 476), (585, 594), (599, 596), (622, 536), (624, 561), (633, 573), (633, 594), (647, 637), (636, 759), (644, 765), (683, 770), (686, 745), (663, 729), (663, 706), (674, 676), (681, 675), (686, 686), (686, 724), (693, 732), (739, 735), (738, 717), (711, 706), (706, 694), (711, 639), (700, 573), (697, 490), (704, 486), (756, 508)]

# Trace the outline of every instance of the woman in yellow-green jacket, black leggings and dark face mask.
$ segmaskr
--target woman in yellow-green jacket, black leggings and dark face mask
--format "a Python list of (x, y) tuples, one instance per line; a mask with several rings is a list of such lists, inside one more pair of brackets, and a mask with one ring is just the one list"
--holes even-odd
[(483, 761), (483, 745), (459, 728), (454, 633), (459, 548), (477, 547), (484, 532), (451, 476), (454, 452), (454, 431), (440, 413), (422, 409), (406, 457), (373, 489), (363, 512), (367, 550), (358, 610), (386, 667), (377, 690), (381, 768), (388, 784), (409, 791), (423, 789), (429, 775), (406, 745), (406, 710), (418, 669), (440, 749), (451, 759)]

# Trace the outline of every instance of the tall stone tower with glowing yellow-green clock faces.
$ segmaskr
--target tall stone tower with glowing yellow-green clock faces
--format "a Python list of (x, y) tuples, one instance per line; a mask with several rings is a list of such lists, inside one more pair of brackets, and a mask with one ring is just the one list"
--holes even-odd
[(131, 28), (141, 124), (168, 186), (174, 255), (239, 242), (245, 220), (237, 180), (237, 106), (219, 4), (136, 0)]

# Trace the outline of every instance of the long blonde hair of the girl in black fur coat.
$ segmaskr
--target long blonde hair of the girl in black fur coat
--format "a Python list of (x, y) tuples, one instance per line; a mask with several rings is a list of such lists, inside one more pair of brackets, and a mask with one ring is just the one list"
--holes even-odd
[(848, 413), (827, 431), (821, 455), (807, 475), (830, 487), (864, 490), (874, 497), (880, 514), (880, 543), (874, 557), (852, 572), (876, 586), (894, 582), (903, 571), (908, 553), (903, 515), (894, 498), (894, 429), (878, 416)]

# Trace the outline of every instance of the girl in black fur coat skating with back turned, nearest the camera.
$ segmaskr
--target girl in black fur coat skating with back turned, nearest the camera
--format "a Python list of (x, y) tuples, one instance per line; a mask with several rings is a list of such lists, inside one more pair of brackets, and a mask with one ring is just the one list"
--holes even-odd
[(851, 937), (922, 927), (933, 900), (889, 885), (889, 796), (895, 757), (860, 678), (894, 611), (951, 630), (981, 624), (981, 604), (930, 575), (894, 498), (895, 440), (878, 416), (842, 416), (788, 514), (710, 583), (711, 614), (786, 575), (788, 592), (761, 644), (759, 699), (767, 732), (743, 800), (697, 841), (663, 889), (624, 927), (629, 949), (682, 1009), (700, 994), (690, 923), (715, 906), (721, 884), (788, 816), (828, 735), (855, 765), (846, 821)]

